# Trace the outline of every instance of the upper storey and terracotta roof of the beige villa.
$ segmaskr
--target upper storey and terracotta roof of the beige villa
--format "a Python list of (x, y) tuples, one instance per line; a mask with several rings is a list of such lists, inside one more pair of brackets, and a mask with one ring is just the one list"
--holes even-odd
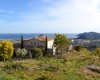
[[(52, 49), (54, 44), (54, 38), (47, 36), (47, 48)], [(44, 48), (46, 45), (46, 36), (38, 36), (34, 38), (24, 39), (23, 42), (24, 47), (42, 47)]]

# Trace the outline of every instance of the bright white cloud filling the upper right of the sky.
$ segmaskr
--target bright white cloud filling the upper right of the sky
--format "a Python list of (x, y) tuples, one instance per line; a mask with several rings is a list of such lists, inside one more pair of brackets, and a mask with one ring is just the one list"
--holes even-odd
[[(47, 10), (48, 17), (56, 17), (60, 26), (55, 26), (63, 29), (82, 29), (96, 30), (100, 26), (100, 12), (98, 6), (99, 0), (71, 0), (69, 4), (64, 1), (62, 4), (56, 4)], [(70, 27), (70, 28), (69, 28)]]

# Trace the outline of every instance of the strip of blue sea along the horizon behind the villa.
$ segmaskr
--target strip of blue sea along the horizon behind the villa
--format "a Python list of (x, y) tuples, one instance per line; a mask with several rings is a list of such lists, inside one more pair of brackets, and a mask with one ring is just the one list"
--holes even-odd
[[(37, 37), (39, 35), (44, 35), (44, 36), (50, 36), (52, 38), (55, 38), (55, 35), (53, 33), (2, 33), (0, 34), (0, 40), (20, 40), (21, 35), (23, 36), (24, 39), (27, 38), (32, 38), (32, 37)], [(66, 37), (68, 38), (77, 38), (77, 34), (65, 34)]]

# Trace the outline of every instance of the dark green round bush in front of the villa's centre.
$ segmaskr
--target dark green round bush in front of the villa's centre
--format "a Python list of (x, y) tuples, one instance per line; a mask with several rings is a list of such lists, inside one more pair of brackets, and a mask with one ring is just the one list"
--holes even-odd
[(39, 48), (36, 48), (36, 47), (33, 47), (33, 48), (31, 49), (31, 53), (32, 53), (32, 57), (33, 57), (33, 58), (39, 59), (39, 58), (41, 58), (41, 57), (43, 56), (42, 50), (39, 49)]

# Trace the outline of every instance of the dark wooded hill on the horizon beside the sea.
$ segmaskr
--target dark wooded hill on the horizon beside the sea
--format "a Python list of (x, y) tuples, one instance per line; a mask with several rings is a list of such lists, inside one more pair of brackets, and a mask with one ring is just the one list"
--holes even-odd
[(78, 39), (85, 39), (85, 40), (95, 40), (100, 39), (100, 33), (97, 32), (85, 32), (78, 34)]

